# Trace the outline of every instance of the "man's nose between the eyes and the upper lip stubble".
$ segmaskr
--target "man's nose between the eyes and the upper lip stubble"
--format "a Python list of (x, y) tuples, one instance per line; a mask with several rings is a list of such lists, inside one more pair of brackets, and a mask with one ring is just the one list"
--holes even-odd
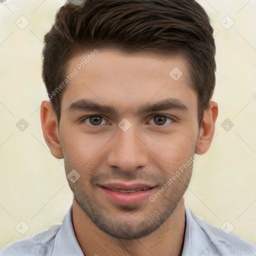
[(111, 140), (111, 150), (107, 157), (107, 163), (109, 166), (118, 167), (123, 171), (133, 171), (138, 167), (147, 165), (146, 149), (142, 138), (133, 126), (126, 131), (118, 128)]

